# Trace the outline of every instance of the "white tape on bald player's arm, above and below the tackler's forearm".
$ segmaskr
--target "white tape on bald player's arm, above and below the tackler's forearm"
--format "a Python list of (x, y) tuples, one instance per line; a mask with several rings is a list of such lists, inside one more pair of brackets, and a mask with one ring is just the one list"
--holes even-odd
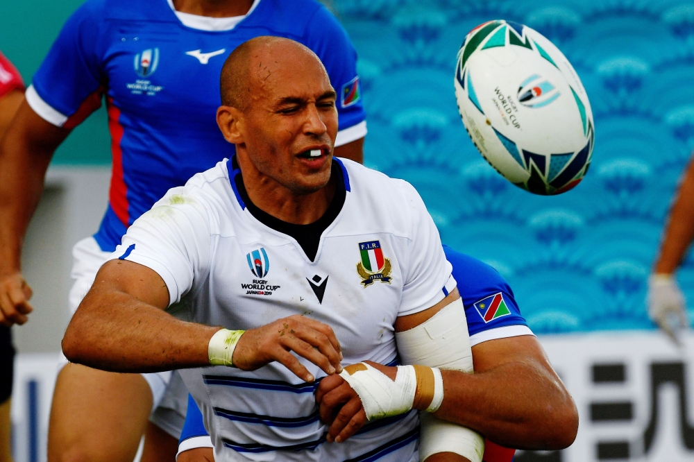
[[(468, 323), (461, 299), (449, 303), (425, 323), (405, 332), (396, 332), (395, 336), (403, 364), (473, 372)], [(484, 438), (480, 434), (443, 422), (426, 412), (419, 416), (420, 461), (439, 452), (454, 452), (471, 462), (482, 462)]]

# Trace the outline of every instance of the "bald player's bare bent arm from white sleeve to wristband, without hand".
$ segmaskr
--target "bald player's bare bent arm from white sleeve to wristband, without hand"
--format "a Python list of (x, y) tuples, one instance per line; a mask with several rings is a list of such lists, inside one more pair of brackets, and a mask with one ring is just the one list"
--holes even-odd
[(169, 291), (155, 271), (125, 260), (104, 264), (72, 317), (62, 351), (74, 363), (116, 372), (209, 366), (219, 327), (167, 314)]

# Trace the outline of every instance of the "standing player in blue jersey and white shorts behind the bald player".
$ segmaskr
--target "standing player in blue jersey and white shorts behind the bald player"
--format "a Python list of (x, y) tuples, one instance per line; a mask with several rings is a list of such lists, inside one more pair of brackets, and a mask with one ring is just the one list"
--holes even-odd
[[(88, 0), (63, 27), (0, 145), (1, 322), (26, 320), (22, 239), (51, 157), (71, 129), (105, 97), (113, 164), (109, 204), (99, 231), (73, 249), (74, 311), (137, 217), (171, 187), (233, 154), (215, 121), (219, 74), (229, 53), (257, 35), (291, 37), (321, 58), (339, 92), (335, 154), (362, 160), (366, 121), (355, 49), (316, 1)], [(144, 460), (172, 458), (183, 418), (171, 421), (171, 409), (180, 395), (185, 414), (187, 400), (185, 388), (171, 390), (176, 386), (183, 384), (171, 373), (63, 367), (51, 408), (49, 460), (130, 462), (144, 431), (158, 447), (151, 451), (146, 444)], [(170, 396), (164, 396), (167, 387)], [(148, 426), (152, 411), (156, 425)], [(173, 442), (168, 452), (162, 449), (167, 441)]]

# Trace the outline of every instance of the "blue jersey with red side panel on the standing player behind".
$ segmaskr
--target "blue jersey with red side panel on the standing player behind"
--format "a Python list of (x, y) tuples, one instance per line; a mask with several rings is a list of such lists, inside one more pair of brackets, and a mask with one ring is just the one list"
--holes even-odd
[[(109, 206), (94, 236), (102, 250), (114, 250), (170, 188), (233, 155), (215, 119), (219, 74), (246, 40), (276, 35), (312, 49), (339, 95), (336, 145), (366, 135), (357, 55), (325, 7), (255, 0), (240, 22), (228, 19), (175, 12), (167, 0), (87, 0), (35, 74), (27, 101), (56, 126), (77, 126), (105, 96), (113, 167)], [(213, 30), (219, 24), (232, 28)]]

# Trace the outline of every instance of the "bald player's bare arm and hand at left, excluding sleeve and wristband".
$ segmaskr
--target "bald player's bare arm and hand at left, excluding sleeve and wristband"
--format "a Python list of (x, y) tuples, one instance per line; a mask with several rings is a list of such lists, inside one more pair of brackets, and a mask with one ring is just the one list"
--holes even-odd
[[(127, 260), (106, 262), (67, 327), (62, 351), (71, 362), (116, 372), (210, 366), (208, 345), (221, 327), (178, 320), (164, 311), (168, 305), (169, 290), (158, 273)], [(303, 316), (246, 330), (233, 363), (255, 370), (278, 361), (312, 382), (314, 377), (290, 351), (328, 375), (342, 369), (335, 333)]]

